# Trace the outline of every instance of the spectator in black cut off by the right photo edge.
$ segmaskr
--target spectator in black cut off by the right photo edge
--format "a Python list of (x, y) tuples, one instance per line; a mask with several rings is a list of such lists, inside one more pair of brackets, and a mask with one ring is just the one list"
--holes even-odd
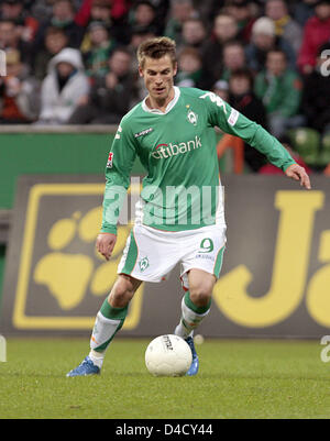
[[(322, 56), (328, 51), (328, 57)], [(330, 42), (318, 52), (314, 70), (304, 78), (302, 111), (308, 126), (321, 134), (330, 132)], [(328, 64), (328, 67), (326, 66)], [(322, 71), (322, 65), (326, 71)], [(326, 76), (324, 74), (328, 74)]]

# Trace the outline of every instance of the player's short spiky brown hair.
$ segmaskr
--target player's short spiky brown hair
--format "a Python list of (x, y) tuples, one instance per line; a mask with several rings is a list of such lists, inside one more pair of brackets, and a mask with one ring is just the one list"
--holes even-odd
[(176, 65), (176, 43), (167, 36), (158, 36), (148, 38), (141, 43), (138, 48), (138, 62), (141, 68), (144, 67), (146, 57), (160, 59), (165, 55), (169, 55), (173, 66)]

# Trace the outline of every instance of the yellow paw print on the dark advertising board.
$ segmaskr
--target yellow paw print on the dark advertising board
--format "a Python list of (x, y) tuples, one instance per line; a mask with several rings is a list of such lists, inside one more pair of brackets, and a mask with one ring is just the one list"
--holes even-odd
[[(36, 284), (47, 287), (62, 310), (76, 308), (88, 294), (106, 296), (117, 278), (117, 266), (131, 225), (119, 227), (112, 258), (105, 262), (95, 247), (101, 216), (101, 207), (84, 216), (76, 211), (70, 218), (57, 220), (48, 231), (50, 252), (37, 262), (33, 278)], [(90, 253), (73, 252), (77, 239), (84, 245), (90, 244)]]

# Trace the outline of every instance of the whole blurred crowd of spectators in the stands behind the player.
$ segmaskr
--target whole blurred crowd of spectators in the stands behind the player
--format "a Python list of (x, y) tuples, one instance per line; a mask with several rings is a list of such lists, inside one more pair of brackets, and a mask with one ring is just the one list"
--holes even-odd
[(0, 123), (119, 123), (146, 95), (136, 48), (157, 35), (177, 44), (177, 86), (278, 139), (330, 133), (330, 0), (0, 0)]

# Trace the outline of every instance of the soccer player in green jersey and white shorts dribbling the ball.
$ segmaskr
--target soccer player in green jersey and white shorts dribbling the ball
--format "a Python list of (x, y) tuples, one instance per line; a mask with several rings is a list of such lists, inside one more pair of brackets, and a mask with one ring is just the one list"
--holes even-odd
[(121, 329), (139, 286), (163, 280), (179, 262), (185, 295), (174, 332), (191, 349), (187, 375), (197, 374), (199, 360), (193, 333), (210, 311), (226, 246), (216, 125), (241, 136), (288, 177), (310, 188), (305, 169), (261, 125), (212, 92), (174, 86), (175, 42), (167, 37), (148, 40), (140, 45), (138, 60), (148, 95), (123, 117), (109, 154), (102, 228), (97, 238), (97, 250), (106, 260), (116, 244), (119, 208), (136, 156), (147, 176), (118, 278), (96, 318), (90, 353), (67, 376), (100, 373), (106, 350)]

